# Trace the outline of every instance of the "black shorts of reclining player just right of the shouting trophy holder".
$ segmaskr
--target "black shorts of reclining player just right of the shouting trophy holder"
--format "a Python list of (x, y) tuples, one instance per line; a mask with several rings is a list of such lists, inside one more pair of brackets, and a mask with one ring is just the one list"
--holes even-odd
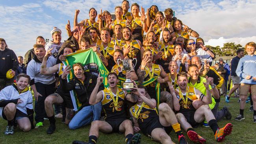
[(163, 128), (165, 130), (165, 132), (169, 135), (169, 133), (172, 131), (173, 127), (172, 126), (162, 126), (159, 118), (156, 117), (153, 120), (151, 120), (150, 124), (148, 124), (148, 127), (145, 127), (144, 129), (141, 127), (141, 131), (143, 132), (144, 135), (147, 135), (149, 138), (151, 138), (152, 140), (154, 140), (151, 136), (151, 133), (154, 129), (156, 128)]

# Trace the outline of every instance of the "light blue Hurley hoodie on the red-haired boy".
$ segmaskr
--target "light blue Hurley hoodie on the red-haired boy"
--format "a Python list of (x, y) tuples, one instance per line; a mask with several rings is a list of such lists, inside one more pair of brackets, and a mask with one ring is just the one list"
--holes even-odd
[[(256, 85), (252, 77), (256, 77), (256, 55), (245, 55), (237, 65), (236, 74), (240, 77), (240, 83)], [(246, 76), (252, 76), (251, 79), (245, 79)]]

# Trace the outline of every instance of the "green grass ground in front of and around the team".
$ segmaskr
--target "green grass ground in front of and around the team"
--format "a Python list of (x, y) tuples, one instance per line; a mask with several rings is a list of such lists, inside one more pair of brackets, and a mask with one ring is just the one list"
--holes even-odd
[[(220, 107), (227, 106), (232, 113), (231, 120), (221, 120), (218, 122), (220, 127), (226, 123), (231, 122), (234, 127), (232, 134), (226, 137), (224, 144), (255, 144), (255, 128), (256, 124), (252, 122), (253, 112), (249, 111), (250, 104), (245, 106), (245, 120), (237, 122), (234, 118), (239, 114), (238, 98), (230, 98), (230, 103), (224, 102), (224, 96), (221, 97)], [(4, 135), (6, 130), (7, 121), (0, 119), (0, 143), (1, 144), (71, 144), (73, 140), (88, 140), (90, 126), (85, 126), (80, 129), (70, 130), (65, 124), (61, 123), (61, 119), (56, 121), (56, 131), (52, 135), (46, 134), (46, 129), (49, 126), (49, 121), (45, 120), (44, 126), (38, 129), (32, 129), (30, 132), (24, 133), (19, 128), (16, 128), (13, 135)], [(195, 129), (199, 135), (206, 138), (208, 144), (216, 144), (213, 131), (210, 128), (198, 127)], [(142, 133), (141, 133), (142, 134)], [(170, 137), (174, 142), (178, 142), (178, 138), (171, 131)], [(189, 144), (192, 144), (186, 136)], [(104, 134), (100, 133), (98, 144), (125, 144), (124, 135), (118, 133)], [(142, 134), (142, 144), (156, 144)]]

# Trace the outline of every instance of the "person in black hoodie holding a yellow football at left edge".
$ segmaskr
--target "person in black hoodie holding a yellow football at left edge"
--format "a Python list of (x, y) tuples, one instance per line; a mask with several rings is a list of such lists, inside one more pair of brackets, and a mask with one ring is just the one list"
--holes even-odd
[(14, 78), (7, 79), (6, 72), (11, 69), (11, 74), (15, 76), (18, 66), (17, 56), (7, 47), (6, 41), (0, 38), (0, 90), (12, 85)]

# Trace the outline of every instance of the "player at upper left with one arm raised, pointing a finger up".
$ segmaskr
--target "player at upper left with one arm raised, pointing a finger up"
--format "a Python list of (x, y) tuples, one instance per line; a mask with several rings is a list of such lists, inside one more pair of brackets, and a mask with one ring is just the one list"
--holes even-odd
[(79, 14), (79, 9), (76, 9), (75, 17), (74, 17), (74, 26), (83, 26), (85, 28), (85, 31), (88, 31), (89, 28), (95, 27), (97, 30), (99, 28), (98, 23), (95, 21), (97, 17), (97, 11), (94, 7), (89, 9), (89, 19), (84, 19), (81, 22), (77, 23), (77, 17)]

